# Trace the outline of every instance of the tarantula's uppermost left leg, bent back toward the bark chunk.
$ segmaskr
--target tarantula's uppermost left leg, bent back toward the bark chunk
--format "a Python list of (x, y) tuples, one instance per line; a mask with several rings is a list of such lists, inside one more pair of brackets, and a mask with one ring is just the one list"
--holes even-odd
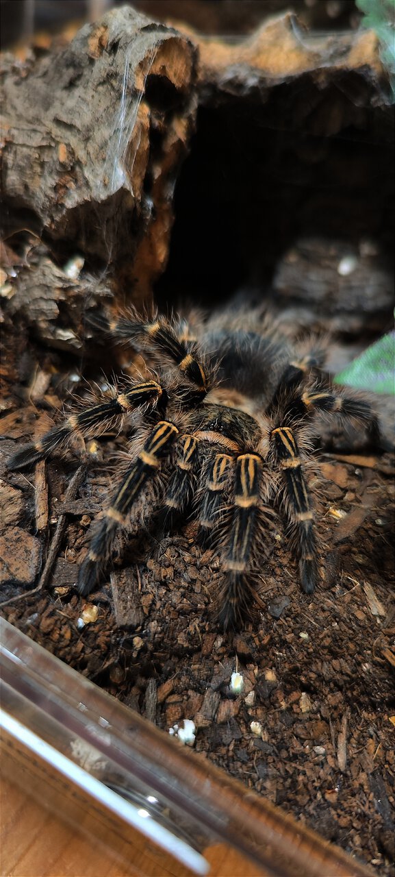
[(133, 343), (134, 340), (151, 346), (160, 353), (173, 360), (180, 372), (185, 374), (188, 381), (195, 387), (196, 401), (202, 402), (211, 389), (211, 376), (207, 368), (191, 353), (190, 345), (179, 338), (173, 330), (173, 326), (164, 318), (155, 319), (151, 323), (139, 321), (138, 316), (134, 319), (120, 317), (109, 323), (109, 330), (119, 339)]

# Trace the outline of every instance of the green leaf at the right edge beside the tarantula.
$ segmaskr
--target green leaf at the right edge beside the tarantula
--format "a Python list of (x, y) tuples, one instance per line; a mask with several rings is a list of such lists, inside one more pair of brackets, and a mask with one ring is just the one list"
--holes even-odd
[(395, 394), (395, 332), (389, 332), (336, 374), (335, 383)]

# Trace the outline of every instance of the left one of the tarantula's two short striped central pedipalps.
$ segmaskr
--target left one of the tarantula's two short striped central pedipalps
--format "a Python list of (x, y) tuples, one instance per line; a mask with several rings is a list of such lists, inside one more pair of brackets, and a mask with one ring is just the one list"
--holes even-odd
[(163, 522), (166, 527), (186, 510), (192, 499), (194, 467), (198, 458), (198, 443), (194, 436), (185, 433), (177, 439), (178, 457), (175, 469), (166, 488)]

